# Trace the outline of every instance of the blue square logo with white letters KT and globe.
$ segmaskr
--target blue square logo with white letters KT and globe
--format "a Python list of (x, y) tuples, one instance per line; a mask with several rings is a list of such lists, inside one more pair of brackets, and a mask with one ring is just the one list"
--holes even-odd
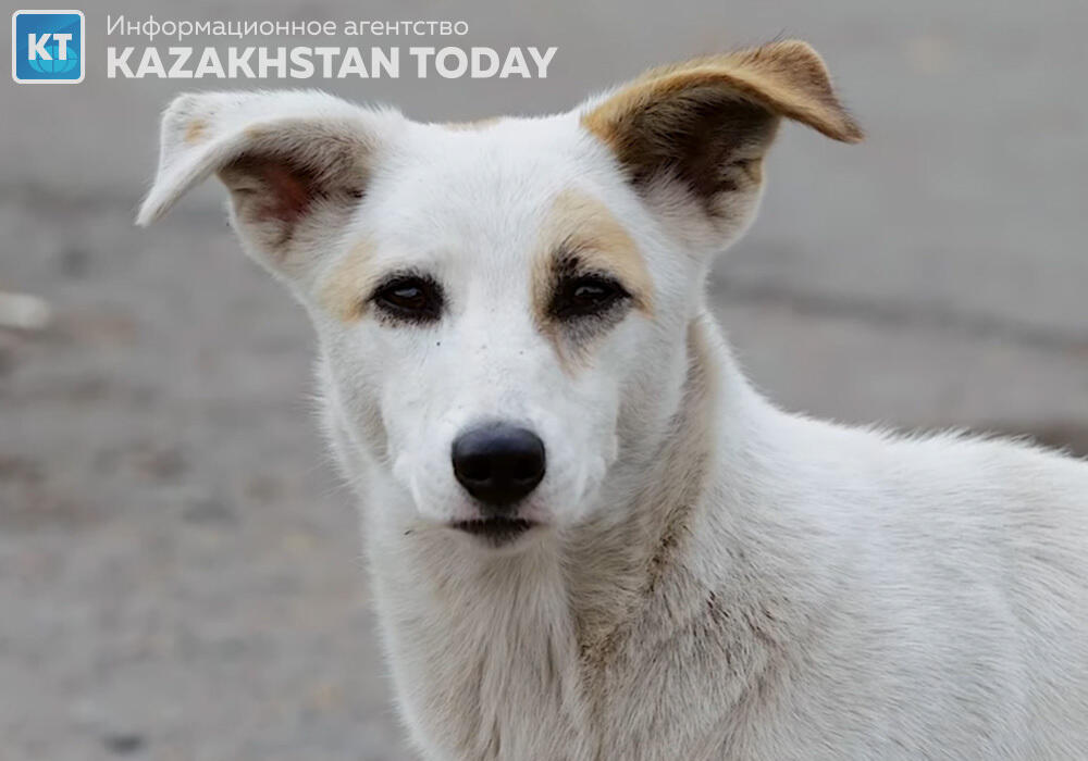
[(81, 11), (15, 11), (11, 15), (11, 76), (20, 84), (83, 82)]

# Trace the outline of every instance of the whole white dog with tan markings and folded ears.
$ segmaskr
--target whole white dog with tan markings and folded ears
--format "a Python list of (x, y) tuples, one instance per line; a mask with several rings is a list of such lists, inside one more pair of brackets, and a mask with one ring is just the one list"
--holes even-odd
[(316, 327), (426, 759), (1088, 758), (1088, 463), (783, 412), (709, 316), (796, 40), (570, 112), (420, 124), (182, 95), (137, 222), (217, 174)]

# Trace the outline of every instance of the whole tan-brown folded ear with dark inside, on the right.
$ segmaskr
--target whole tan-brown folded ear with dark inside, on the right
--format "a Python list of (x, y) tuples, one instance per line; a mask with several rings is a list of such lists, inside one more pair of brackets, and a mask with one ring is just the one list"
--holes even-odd
[(800, 40), (654, 68), (581, 111), (640, 191), (679, 184), (712, 220), (754, 205), (733, 201), (757, 195), (781, 116), (836, 140), (863, 137), (824, 61)]

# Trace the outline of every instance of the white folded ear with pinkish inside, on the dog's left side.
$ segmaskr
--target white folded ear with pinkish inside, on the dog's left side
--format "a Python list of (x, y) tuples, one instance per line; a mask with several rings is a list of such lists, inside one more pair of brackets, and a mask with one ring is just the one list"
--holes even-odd
[(362, 198), (397, 123), (396, 112), (318, 91), (178, 96), (162, 117), (159, 170), (136, 223), (150, 224), (217, 173), (247, 251), (276, 273), (299, 274)]

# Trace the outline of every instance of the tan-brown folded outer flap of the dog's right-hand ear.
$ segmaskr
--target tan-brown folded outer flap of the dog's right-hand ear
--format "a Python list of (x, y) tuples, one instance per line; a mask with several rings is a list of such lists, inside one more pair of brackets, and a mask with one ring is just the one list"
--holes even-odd
[[(582, 115), (582, 124), (614, 149), (647, 107), (670, 97), (715, 88), (771, 113), (807, 124), (844, 142), (864, 138), (839, 102), (824, 60), (807, 42), (783, 40), (722, 55), (652, 68)], [(696, 103), (682, 103), (692, 108)]]

